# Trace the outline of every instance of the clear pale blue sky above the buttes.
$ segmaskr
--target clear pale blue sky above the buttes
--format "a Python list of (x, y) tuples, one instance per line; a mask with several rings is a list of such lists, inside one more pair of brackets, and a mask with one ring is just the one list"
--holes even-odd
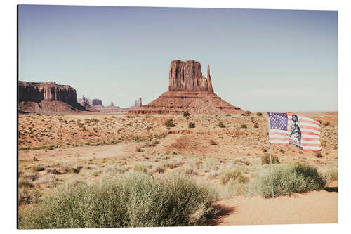
[(20, 5), (19, 79), (69, 84), (121, 107), (168, 91), (197, 60), (223, 100), (251, 111), (338, 110), (338, 12)]

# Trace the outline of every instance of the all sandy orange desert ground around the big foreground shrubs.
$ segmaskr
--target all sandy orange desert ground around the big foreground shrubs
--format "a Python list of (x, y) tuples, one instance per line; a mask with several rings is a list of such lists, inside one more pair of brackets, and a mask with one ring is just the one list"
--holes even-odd
[[(338, 115), (310, 115), (322, 122), (322, 157), (279, 146), (272, 148), (272, 154), (281, 163), (302, 162), (319, 171), (337, 169)], [(30, 149), (19, 150), (19, 170), (37, 174), (34, 182), (45, 193), (72, 180), (98, 181), (109, 173), (109, 167), (133, 171), (135, 164), (145, 165), (150, 174), (191, 169), (188, 176), (216, 189), (223, 188), (218, 175), (225, 169), (238, 167), (250, 178), (262, 168), (260, 159), (269, 152), (266, 116), (172, 117), (177, 126), (167, 128), (164, 122), (170, 117), (162, 115), (20, 115), (19, 146)], [(188, 122), (195, 122), (196, 127), (189, 129)], [(225, 127), (216, 126), (218, 122)], [(150, 145), (155, 139), (157, 143)], [(58, 148), (33, 148), (46, 145)], [(78, 174), (65, 172), (62, 163), (81, 169)], [(35, 171), (37, 165), (45, 170)], [(48, 169), (57, 169), (59, 174), (48, 174)], [(231, 196), (217, 202), (222, 212), (210, 225), (337, 223), (338, 185), (333, 182), (329, 188), (274, 200)]]

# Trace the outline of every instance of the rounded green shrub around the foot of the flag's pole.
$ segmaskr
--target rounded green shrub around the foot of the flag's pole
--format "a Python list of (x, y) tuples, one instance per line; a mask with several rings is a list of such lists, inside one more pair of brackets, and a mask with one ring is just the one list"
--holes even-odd
[[(309, 190), (321, 190), (326, 180), (318, 173), (317, 168), (298, 162), (273, 167), (274, 196), (304, 193)], [(272, 181), (270, 169), (266, 169), (261, 176), (253, 178), (251, 192), (272, 197)]]

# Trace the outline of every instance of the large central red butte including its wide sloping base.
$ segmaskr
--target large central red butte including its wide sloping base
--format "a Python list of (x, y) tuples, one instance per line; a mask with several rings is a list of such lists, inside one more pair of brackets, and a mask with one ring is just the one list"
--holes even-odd
[(237, 108), (213, 93), (210, 66), (207, 77), (201, 64), (194, 60), (173, 60), (169, 67), (169, 86), (166, 93), (147, 105), (130, 110), (131, 114), (173, 114), (185, 111), (192, 114), (240, 113)]

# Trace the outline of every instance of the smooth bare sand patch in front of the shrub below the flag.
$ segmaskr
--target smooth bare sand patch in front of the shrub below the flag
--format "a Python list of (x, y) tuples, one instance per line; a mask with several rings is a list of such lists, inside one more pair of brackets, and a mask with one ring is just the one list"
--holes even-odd
[(213, 225), (338, 223), (337, 192), (313, 191), (274, 200), (234, 197), (218, 204), (223, 212)]

